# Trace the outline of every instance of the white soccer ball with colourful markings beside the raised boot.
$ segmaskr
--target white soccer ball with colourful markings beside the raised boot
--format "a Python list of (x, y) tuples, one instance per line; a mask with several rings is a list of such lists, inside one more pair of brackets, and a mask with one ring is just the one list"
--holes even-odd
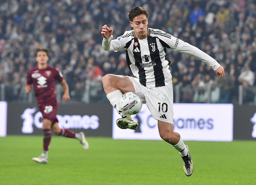
[(124, 93), (120, 98), (119, 106), (126, 115), (137, 114), (142, 108), (140, 96), (133, 92)]

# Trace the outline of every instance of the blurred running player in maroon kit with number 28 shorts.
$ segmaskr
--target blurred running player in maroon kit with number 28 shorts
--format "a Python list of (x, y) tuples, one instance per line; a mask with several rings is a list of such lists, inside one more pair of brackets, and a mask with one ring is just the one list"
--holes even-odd
[(38, 163), (48, 162), (48, 146), (51, 141), (51, 129), (56, 135), (62, 135), (64, 137), (76, 138), (83, 145), (84, 149), (89, 148), (89, 144), (85, 139), (84, 132), (74, 133), (66, 128), (59, 128), (58, 119), (56, 117), (56, 111), (59, 106), (56, 98), (55, 81), (59, 81), (62, 85), (64, 94), (62, 100), (69, 101), (69, 87), (64, 80), (62, 73), (58, 68), (48, 66), (47, 62), (48, 49), (37, 49), (36, 60), (37, 67), (29, 70), (27, 74), (27, 84), (25, 87), (25, 92), (29, 93), (31, 91), (31, 85), (33, 84), (37, 104), (39, 110), (43, 115), (43, 152), (39, 157), (33, 157), (32, 160)]

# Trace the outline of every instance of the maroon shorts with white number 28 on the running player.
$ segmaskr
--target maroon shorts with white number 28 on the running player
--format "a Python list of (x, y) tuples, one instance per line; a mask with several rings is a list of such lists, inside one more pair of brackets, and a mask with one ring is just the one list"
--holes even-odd
[(43, 119), (49, 119), (52, 122), (52, 125), (54, 123), (58, 122), (58, 119), (56, 117), (56, 111), (59, 107), (59, 104), (57, 100), (53, 102), (47, 102), (45, 104), (42, 104), (39, 106), (39, 110), (43, 115)]

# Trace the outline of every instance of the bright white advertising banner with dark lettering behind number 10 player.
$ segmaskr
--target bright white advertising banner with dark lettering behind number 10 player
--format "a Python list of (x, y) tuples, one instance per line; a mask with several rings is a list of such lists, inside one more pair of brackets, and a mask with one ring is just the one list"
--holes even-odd
[[(161, 140), (157, 120), (149, 112), (146, 104), (141, 111), (132, 115), (139, 126), (134, 130), (120, 129), (116, 119), (120, 115), (113, 109), (114, 139)], [(233, 104), (174, 104), (174, 131), (183, 140), (232, 141)]]

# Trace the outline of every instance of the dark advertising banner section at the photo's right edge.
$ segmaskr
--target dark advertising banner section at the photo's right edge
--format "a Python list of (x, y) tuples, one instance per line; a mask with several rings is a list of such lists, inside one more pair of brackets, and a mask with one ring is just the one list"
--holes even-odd
[(234, 105), (234, 139), (256, 140), (256, 107)]

